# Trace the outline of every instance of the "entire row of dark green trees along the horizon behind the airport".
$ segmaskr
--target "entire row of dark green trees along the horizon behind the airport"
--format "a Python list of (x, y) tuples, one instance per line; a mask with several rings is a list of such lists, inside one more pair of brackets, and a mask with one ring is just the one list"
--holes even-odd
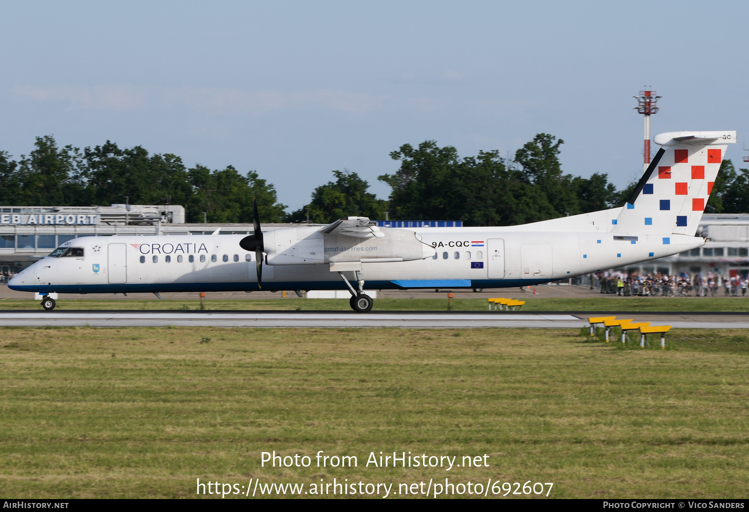
[[(272, 183), (256, 171), (240, 173), (231, 165), (187, 168), (171, 153), (148, 153), (141, 146), (121, 148), (106, 141), (83, 150), (58, 147), (51, 135), (37, 137), (28, 156), (13, 160), (0, 151), (0, 204), (15, 206), (89, 206), (181, 204), (187, 222), (251, 222), (252, 198), (262, 222), (328, 223), (342, 216), (392, 220), (461, 220), (464, 225), (517, 225), (576, 215), (624, 204), (635, 183), (617, 190), (604, 173), (589, 178), (564, 174), (562, 139), (539, 133), (515, 152), (496, 150), (458, 155), (452, 146), (424, 141), (392, 151), (400, 162), (394, 174), (382, 174), (388, 199), (368, 192), (356, 172), (333, 171), (308, 204), (286, 213)], [(706, 211), (749, 211), (749, 170), (730, 160), (721, 165)]]

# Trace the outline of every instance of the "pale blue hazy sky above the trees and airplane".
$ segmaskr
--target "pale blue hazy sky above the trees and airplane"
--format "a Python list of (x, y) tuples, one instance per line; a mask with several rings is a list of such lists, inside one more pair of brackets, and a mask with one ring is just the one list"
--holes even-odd
[[(749, 122), (747, 2), (2, 1), (0, 150), (107, 139), (234, 165), (291, 209), (348, 168), (386, 197), (389, 152), (564, 139), (565, 172), (642, 172), (653, 134)], [(742, 144), (727, 156), (741, 160)]]

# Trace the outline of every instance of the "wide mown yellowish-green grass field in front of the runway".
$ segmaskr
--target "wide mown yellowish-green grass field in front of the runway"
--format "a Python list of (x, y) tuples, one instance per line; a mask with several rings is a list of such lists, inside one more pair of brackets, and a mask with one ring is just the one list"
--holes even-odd
[[(745, 497), (745, 333), (679, 330), (673, 350), (588, 339), (571, 329), (0, 329), (0, 496), (195, 497), (195, 478), (397, 489), (448, 477), (554, 482), (554, 497)], [(261, 468), (260, 452), (273, 450), (356, 455), (359, 466)], [(490, 457), (450, 472), (375, 469), (364, 467), (370, 451)]]

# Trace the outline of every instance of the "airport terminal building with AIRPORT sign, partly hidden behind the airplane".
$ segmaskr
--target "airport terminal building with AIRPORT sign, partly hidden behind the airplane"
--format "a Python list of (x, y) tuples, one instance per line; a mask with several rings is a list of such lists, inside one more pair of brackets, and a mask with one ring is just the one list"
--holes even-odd
[[(392, 228), (461, 227), (460, 221), (375, 221)], [(264, 230), (292, 225), (263, 225)], [(0, 207), (0, 266), (4, 275), (20, 272), (76, 237), (124, 235), (203, 235), (252, 233), (246, 224), (186, 224), (179, 205), (112, 204), (109, 207)], [(706, 246), (679, 255), (616, 269), (692, 275), (749, 274), (749, 214), (706, 213), (697, 234)]]

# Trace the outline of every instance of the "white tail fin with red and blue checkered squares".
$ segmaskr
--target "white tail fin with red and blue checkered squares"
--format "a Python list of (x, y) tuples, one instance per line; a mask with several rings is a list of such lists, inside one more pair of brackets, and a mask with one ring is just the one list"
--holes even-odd
[(667, 132), (612, 227), (613, 232), (694, 237), (736, 132)]

